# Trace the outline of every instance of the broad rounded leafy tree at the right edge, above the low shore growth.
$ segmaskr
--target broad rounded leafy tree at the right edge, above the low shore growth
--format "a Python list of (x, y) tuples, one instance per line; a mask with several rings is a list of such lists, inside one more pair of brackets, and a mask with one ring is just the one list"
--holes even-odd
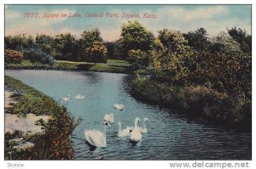
[(210, 82), (220, 91), (250, 93), (251, 56), (244, 54), (232, 37), (225, 33), (214, 37), (209, 51), (198, 60), (196, 82)]

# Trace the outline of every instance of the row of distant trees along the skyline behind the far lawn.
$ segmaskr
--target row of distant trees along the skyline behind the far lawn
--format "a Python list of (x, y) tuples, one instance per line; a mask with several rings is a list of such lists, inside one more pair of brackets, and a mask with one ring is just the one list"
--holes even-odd
[[(38, 34), (36, 37), (8, 36), (4, 38), (4, 47), (21, 52), (24, 59), (41, 63), (53, 64), (54, 59), (94, 63), (104, 63), (107, 59), (125, 59), (138, 67), (148, 66), (152, 61), (152, 54), (149, 53), (155, 49), (161, 50), (158, 48), (162, 48), (162, 45), (173, 48), (170, 44), (175, 41), (168, 39), (168, 32), (167, 29), (160, 30), (159, 36), (154, 37), (152, 32), (137, 21), (129, 21), (121, 26), (121, 37), (114, 42), (103, 41), (99, 29), (94, 28), (82, 32), (79, 39), (71, 33), (58, 34), (55, 37), (44, 34)], [(213, 40), (207, 37), (207, 31), (203, 28), (189, 33), (170, 32), (176, 32), (178, 36), (183, 37), (187, 46), (196, 52), (205, 51), (212, 46)], [(251, 36), (245, 31), (231, 28), (229, 35), (225, 36), (230, 36), (238, 42), (243, 52), (251, 52)]]

